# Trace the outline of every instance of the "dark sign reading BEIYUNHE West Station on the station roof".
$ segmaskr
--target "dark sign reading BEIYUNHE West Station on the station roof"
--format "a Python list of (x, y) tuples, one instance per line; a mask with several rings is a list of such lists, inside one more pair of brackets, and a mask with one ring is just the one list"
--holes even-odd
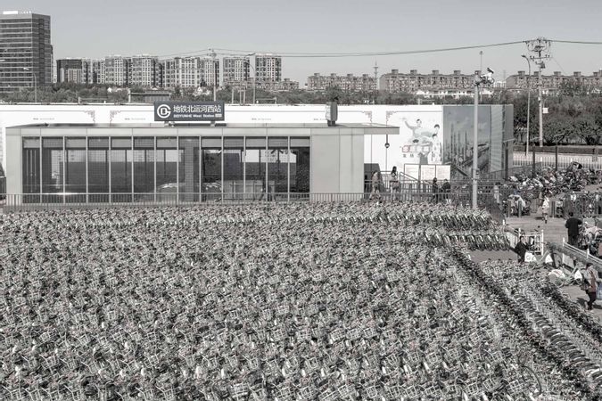
[(155, 121), (223, 121), (224, 102), (154, 102)]

